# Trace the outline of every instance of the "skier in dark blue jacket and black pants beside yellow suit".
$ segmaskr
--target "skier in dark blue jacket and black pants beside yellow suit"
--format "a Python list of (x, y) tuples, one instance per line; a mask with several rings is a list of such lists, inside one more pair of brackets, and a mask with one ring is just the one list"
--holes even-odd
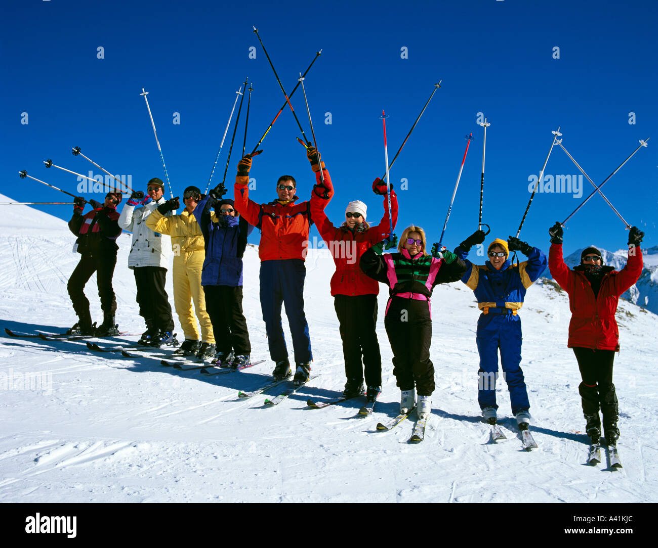
[(193, 215), (205, 241), (201, 286), (215, 334), (215, 363), (237, 369), (249, 363), (251, 354), (242, 313), (242, 256), (253, 226), (237, 214), (233, 200), (222, 200), (224, 193), (224, 185), (215, 187)]

